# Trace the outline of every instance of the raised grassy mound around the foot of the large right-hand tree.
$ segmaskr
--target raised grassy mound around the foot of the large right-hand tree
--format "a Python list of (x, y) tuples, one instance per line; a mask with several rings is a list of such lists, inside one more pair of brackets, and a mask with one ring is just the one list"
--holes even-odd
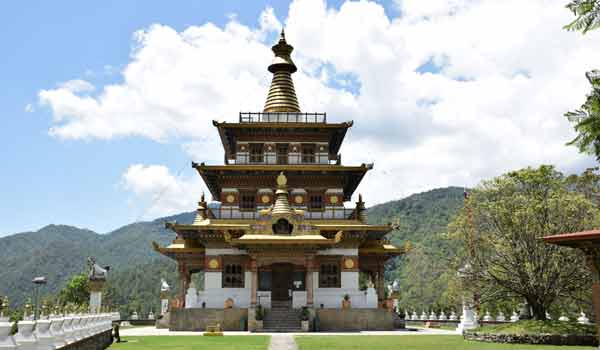
[(596, 334), (596, 327), (576, 322), (519, 321), (479, 327), (475, 332), (495, 334)]

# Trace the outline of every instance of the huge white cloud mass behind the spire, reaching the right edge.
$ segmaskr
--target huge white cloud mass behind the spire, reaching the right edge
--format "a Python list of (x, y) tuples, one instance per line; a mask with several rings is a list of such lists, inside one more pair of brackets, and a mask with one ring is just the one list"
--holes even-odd
[[(564, 1), (399, 0), (398, 7), (401, 17), (389, 18), (374, 2), (330, 8), (302, 0), (285, 20), (301, 108), (354, 119), (344, 162), (376, 163), (360, 188), (370, 204), (527, 165), (593, 164), (564, 145), (573, 131), (562, 115), (583, 102), (584, 72), (600, 62), (600, 32), (564, 31), (572, 19)], [(197, 161), (221, 162), (210, 121), (262, 109), (267, 38), (280, 27), (267, 8), (257, 27), (232, 18), (223, 28), (139, 31), (122, 83), (96, 96), (62, 85), (40, 92), (53, 110), (50, 133), (168, 140)], [(421, 73), (428, 62), (437, 69)]]

